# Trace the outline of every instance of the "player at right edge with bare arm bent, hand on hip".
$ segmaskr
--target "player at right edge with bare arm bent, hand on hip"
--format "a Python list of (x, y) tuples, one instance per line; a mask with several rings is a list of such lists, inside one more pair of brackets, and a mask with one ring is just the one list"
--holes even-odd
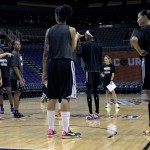
[(150, 10), (142, 10), (138, 13), (138, 25), (141, 27), (131, 38), (131, 44), (143, 57), (142, 79), (143, 90), (145, 89), (149, 100), (149, 131), (150, 132)]

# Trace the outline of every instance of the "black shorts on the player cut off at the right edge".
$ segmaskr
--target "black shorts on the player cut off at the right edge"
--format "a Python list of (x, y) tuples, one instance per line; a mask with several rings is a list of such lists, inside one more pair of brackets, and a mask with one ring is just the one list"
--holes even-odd
[(145, 78), (143, 89), (150, 90), (150, 54), (145, 56)]

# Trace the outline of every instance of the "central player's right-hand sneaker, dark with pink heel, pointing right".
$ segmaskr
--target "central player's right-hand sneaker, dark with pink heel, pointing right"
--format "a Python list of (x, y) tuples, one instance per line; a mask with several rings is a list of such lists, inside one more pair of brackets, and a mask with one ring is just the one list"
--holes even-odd
[(69, 132), (65, 132), (63, 131), (62, 133), (62, 138), (63, 139), (69, 139), (69, 138), (79, 138), (80, 137), (80, 133), (75, 133), (75, 132), (72, 132), (72, 131), (69, 131)]

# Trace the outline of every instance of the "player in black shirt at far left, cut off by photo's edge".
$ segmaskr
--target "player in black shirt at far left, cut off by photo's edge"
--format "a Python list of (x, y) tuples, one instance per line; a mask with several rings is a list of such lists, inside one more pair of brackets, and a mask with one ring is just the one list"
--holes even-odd
[[(3, 54), (4, 51), (3, 49), (0, 48), (0, 54)], [(13, 97), (11, 94), (11, 86), (10, 86), (10, 61), (7, 57), (3, 57), (0, 59), (0, 66), (1, 66), (1, 74), (2, 74), (2, 81), (3, 84), (0, 87), (0, 113), (4, 114), (4, 107), (3, 107), (3, 90), (2, 88), (6, 89), (8, 99), (10, 102), (10, 110), (11, 113), (14, 113), (14, 108), (13, 108)]]

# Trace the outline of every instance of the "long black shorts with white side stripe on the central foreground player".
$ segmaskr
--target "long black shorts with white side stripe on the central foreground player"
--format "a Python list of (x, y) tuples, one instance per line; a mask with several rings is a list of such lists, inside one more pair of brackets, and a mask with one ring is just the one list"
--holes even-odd
[(75, 66), (72, 60), (52, 59), (49, 62), (47, 97), (76, 98)]

